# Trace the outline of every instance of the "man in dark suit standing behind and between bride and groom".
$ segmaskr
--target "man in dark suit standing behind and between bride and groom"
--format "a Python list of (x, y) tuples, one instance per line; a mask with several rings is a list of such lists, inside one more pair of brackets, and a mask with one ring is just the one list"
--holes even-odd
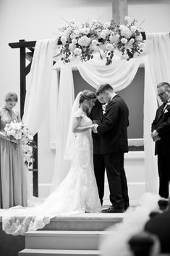
[[(93, 123), (101, 124), (103, 115), (105, 113), (106, 104), (99, 102), (98, 99), (95, 101), (95, 106), (90, 112), (90, 118)], [(105, 163), (103, 154), (101, 154), (101, 136), (98, 133), (92, 133), (93, 136), (93, 163), (95, 171), (95, 179), (98, 186), (98, 194), (103, 205), (104, 196), (104, 175), (105, 175)]]

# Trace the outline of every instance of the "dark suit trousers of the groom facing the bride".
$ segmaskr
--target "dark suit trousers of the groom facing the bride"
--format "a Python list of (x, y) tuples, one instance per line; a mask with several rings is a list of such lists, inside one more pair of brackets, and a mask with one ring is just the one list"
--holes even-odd
[(127, 178), (124, 172), (124, 153), (104, 154), (109, 182), (110, 201), (117, 210), (129, 207)]

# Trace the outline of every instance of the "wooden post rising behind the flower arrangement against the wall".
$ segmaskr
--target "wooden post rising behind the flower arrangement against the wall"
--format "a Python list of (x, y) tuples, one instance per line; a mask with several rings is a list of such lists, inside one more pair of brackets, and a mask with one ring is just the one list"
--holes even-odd
[(127, 0), (112, 0), (112, 19), (124, 24), (124, 17), (127, 15)]

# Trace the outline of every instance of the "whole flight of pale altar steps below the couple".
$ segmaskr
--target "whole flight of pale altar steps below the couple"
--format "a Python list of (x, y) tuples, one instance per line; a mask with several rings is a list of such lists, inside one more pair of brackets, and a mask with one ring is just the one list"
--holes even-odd
[(54, 218), (42, 230), (25, 234), (25, 249), (20, 256), (95, 256), (99, 241), (109, 226), (122, 221), (124, 214), (74, 215)]

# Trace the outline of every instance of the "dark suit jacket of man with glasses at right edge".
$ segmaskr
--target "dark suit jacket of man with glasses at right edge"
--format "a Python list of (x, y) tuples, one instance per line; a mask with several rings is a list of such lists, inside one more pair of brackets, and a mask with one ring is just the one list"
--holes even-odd
[(164, 105), (158, 107), (151, 131), (156, 130), (161, 140), (156, 141), (155, 154), (170, 153), (170, 111), (163, 112)]

